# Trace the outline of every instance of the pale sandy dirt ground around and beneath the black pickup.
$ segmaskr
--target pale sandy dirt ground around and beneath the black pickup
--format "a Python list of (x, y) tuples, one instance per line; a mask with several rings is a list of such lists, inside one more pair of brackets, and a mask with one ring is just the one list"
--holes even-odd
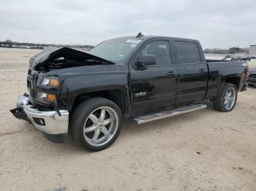
[(256, 190), (256, 88), (233, 112), (208, 109), (123, 125), (102, 152), (53, 144), (12, 117), (29, 56), (0, 48), (0, 190)]

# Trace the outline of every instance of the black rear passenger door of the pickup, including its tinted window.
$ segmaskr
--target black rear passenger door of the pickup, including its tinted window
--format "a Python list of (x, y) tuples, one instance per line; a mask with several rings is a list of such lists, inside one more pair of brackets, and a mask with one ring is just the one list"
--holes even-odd
[(206, 95), (208, 67), (199, 42), (173, 40), (176, 66), (178, 69), (178, 87), (176, 104), (200, 101)]

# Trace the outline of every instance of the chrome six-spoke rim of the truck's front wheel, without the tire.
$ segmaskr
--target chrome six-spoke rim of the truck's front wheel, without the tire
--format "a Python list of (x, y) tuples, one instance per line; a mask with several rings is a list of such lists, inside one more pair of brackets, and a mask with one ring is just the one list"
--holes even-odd
[(83, 136), (91, 146), (107, 144), (118, 128), (118, 115), (108, 106), (95, 109), (83, 125)]

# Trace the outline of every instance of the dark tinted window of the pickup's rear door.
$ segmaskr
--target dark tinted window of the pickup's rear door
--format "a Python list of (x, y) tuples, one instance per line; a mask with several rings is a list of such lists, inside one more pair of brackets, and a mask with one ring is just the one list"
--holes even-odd
[(195, 42), (176, 41), (176, 62), (181, 63), (200, 63), (200, 52)]

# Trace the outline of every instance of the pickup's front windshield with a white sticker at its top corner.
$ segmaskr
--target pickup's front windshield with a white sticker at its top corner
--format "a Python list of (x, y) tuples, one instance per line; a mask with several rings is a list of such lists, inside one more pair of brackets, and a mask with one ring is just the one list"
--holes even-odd
[(138, 39), (111, 39), (94, 47), (90, 54), (121, 64), (140, 42)]

